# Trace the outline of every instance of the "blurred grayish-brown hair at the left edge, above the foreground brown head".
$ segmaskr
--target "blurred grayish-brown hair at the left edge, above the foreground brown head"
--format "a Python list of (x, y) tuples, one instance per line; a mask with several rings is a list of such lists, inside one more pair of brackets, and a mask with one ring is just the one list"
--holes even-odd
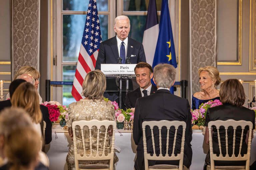
[(32, 127), (32, 120), (24, 109), (7, 108), (0, 112), (0, 135), (7, 137), (11, 131)]

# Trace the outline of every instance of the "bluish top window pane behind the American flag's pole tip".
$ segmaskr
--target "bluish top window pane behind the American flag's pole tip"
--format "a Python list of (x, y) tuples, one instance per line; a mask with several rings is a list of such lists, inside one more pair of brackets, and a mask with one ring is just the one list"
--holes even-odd
[[(108, 0), (97, 0), (98, 11), (108, 11)], [(63, 11), (87, 11), (89, 0), (63, 0)]]

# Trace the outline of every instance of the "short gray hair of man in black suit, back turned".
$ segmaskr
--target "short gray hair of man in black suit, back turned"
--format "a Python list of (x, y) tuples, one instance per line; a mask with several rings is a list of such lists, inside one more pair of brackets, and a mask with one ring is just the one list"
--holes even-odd
[(175, 76), (176, 70), (170, 64), (157, 64), (154, 67), (154, 80), (157, 87), (171, 88)]

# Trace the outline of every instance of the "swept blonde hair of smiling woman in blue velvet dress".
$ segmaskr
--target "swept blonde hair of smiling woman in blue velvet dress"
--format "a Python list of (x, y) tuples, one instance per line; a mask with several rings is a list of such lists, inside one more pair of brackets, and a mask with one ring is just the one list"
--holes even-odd
[(214, 87), (218, 86), (221, 82), (219, 70), (213, 66), (205, 66), (198, 69), (198, 76), (202, 71), (207, 71), (211, 80), (214, 82)]

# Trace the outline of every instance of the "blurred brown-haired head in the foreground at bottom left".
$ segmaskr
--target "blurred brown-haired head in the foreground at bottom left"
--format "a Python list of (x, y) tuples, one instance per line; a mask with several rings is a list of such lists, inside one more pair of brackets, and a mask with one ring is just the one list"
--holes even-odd
[(4, 153), (10, 162), (10, 170), (26, 170), (39, 160), (41, 138), (32, 127), (17, 128), (6, 137)]

